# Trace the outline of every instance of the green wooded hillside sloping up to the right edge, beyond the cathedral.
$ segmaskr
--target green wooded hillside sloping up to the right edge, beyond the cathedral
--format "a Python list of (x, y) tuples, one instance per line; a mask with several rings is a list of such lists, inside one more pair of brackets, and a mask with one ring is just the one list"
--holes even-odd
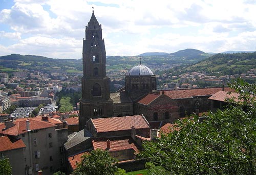
[(220, 74), (240, 74), (256, 68), (256, 52), (217, 54), (185, 68), (186, 71), (204, 70)]

